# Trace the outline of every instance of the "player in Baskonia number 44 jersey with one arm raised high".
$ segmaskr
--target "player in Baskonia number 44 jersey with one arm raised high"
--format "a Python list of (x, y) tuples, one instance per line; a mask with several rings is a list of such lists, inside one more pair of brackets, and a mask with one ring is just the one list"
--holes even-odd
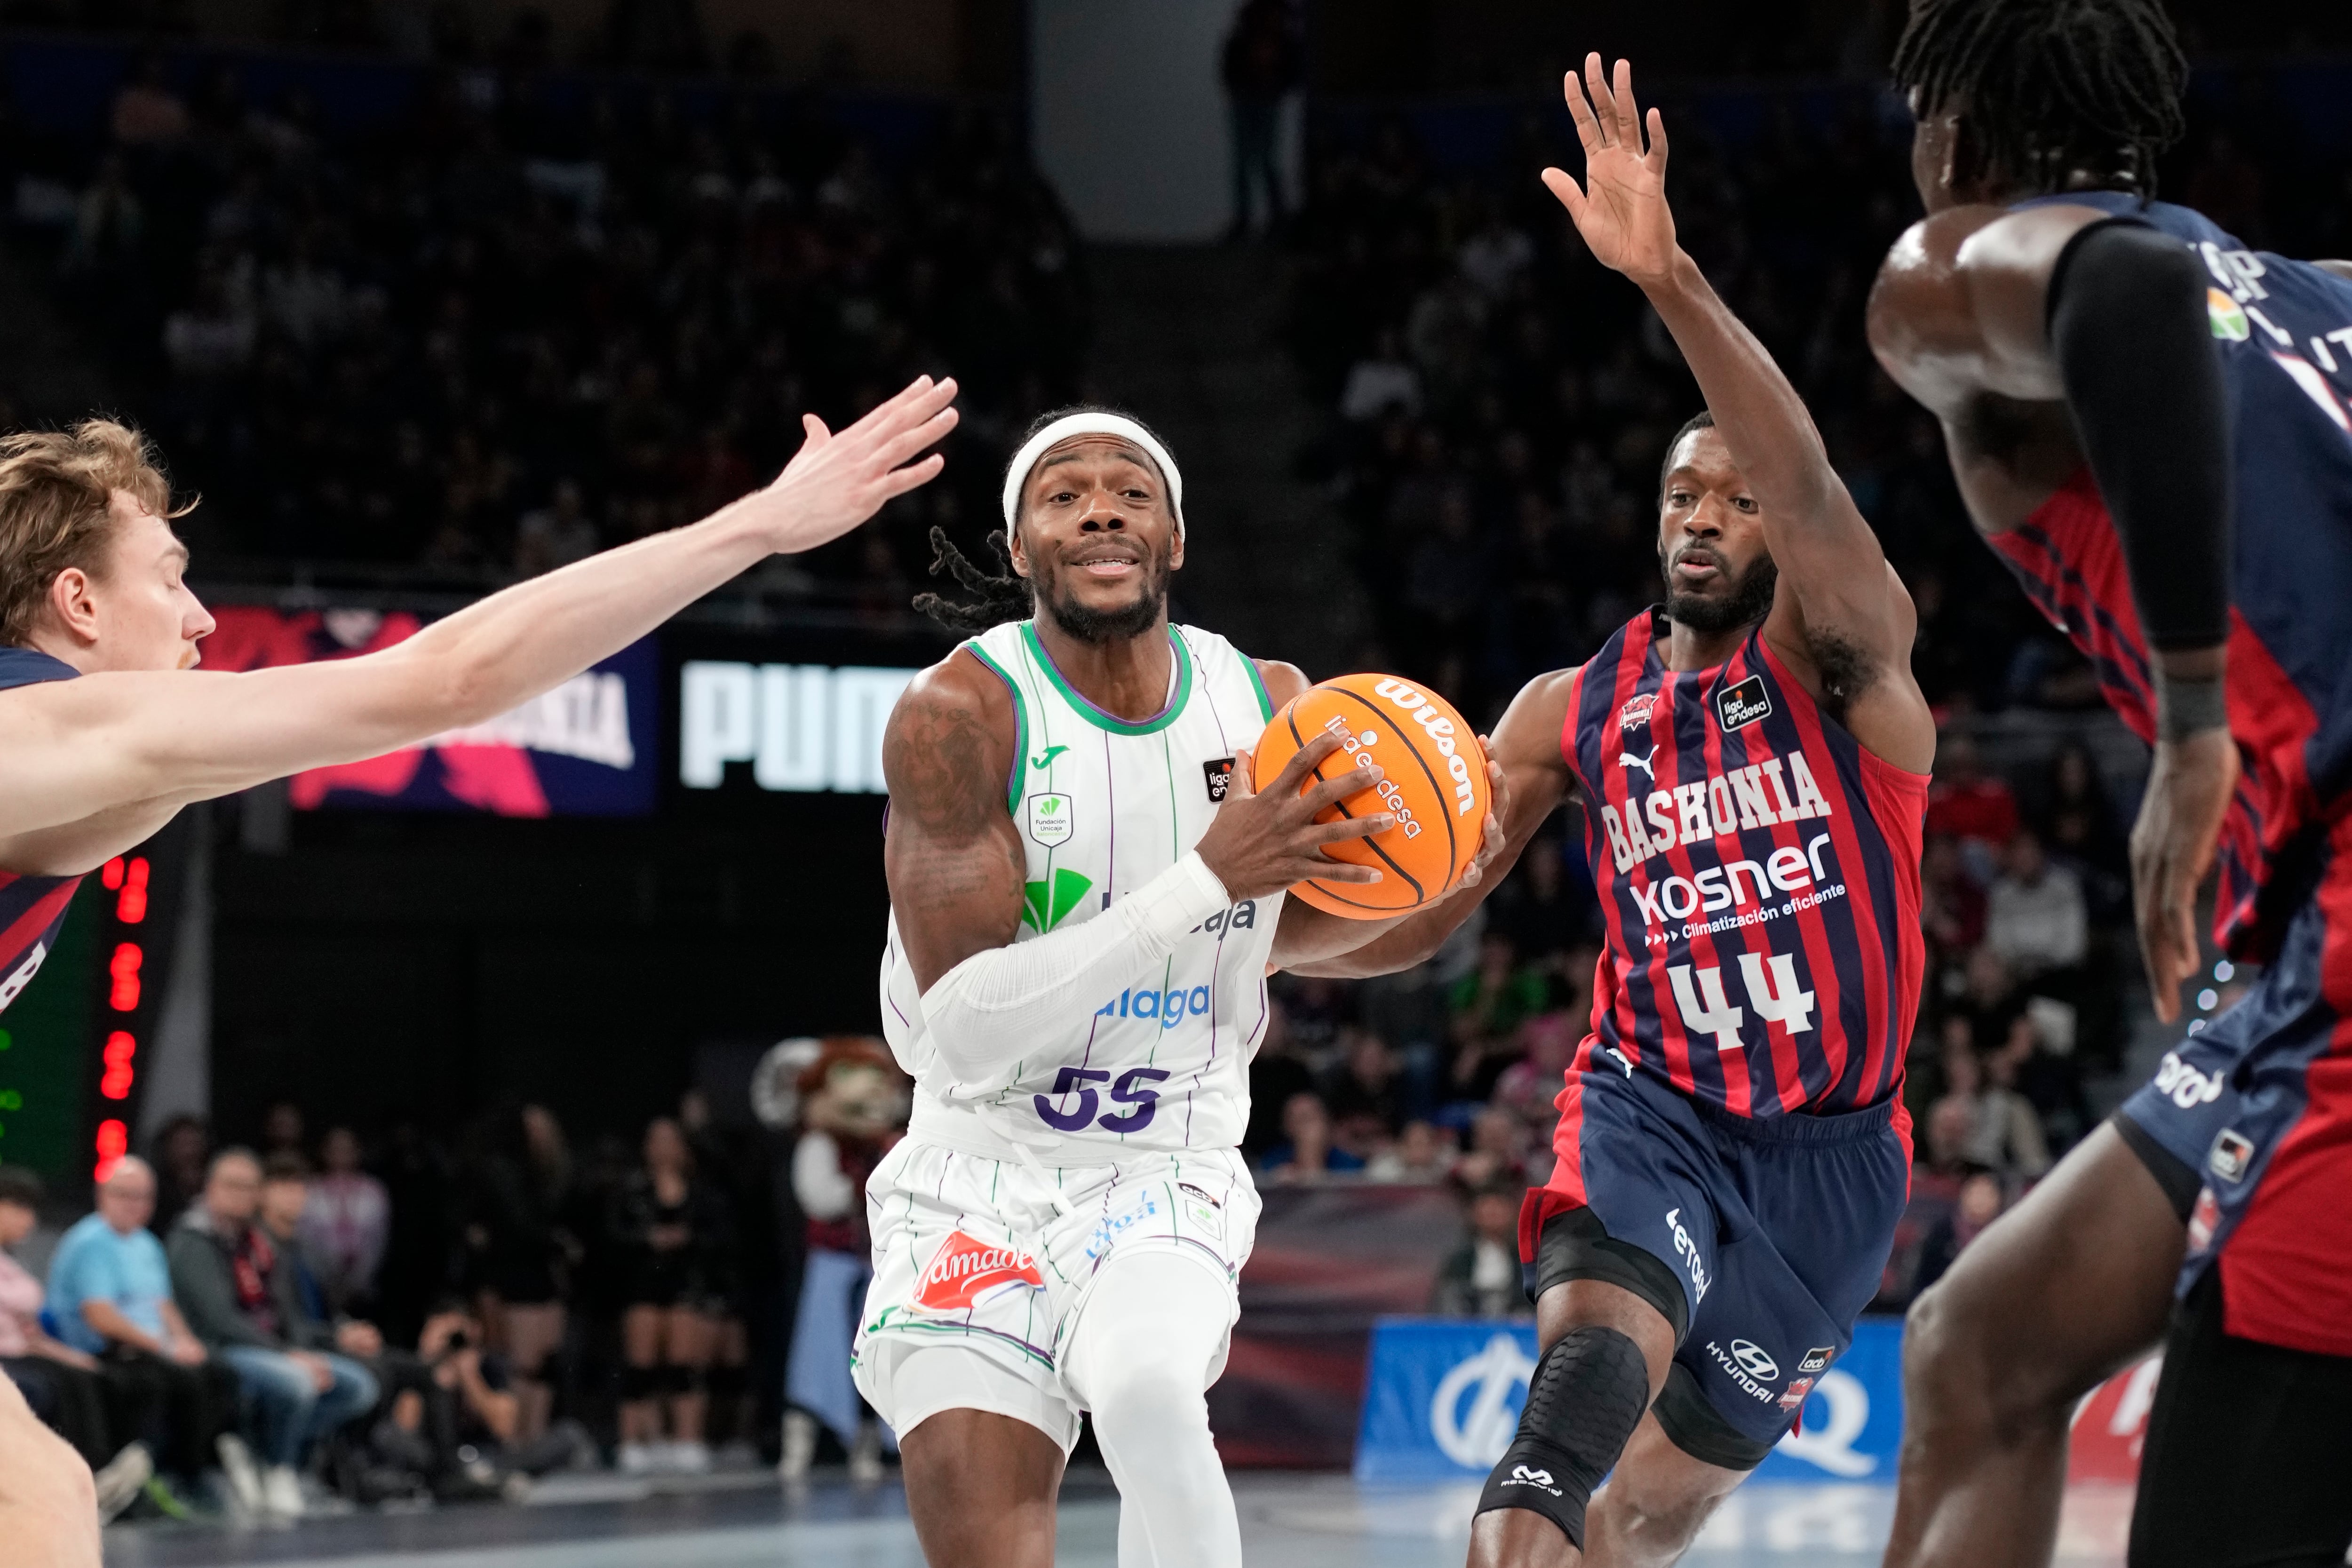
[[(1494, 738), (1503, 858), (1583, 797), (1609, 917), (1559, 1161), (1519, 1215), (1541, 1359), (1470, 1533), (1472, 1563), (1515, 1568), (1682, 1556), (1877, 1293), (1910, 1190), (1936, 750), (1910, 597), (1795, 388), (1675, 244), (1658, 113), (1644, 150), (1632, 73), (1611, 87), (1597, 54), (1566, 99), (1588, 179), (1543, 179), (1710, 414), (1665, 454), (1665, 604), (1529, 682)], [(1414, 964), (1479, 898), (1317, 973)]]

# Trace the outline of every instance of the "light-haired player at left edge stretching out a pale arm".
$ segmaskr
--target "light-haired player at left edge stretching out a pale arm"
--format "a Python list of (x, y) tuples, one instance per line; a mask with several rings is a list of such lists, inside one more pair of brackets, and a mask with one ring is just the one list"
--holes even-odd
[[(938, 473), (955, 383), (915, 381), (767, 489), (489, 595), (362, 658), (207, 675), (172, 487), (111, 421), (0, 440), (0, 1006), (33, 983), (85, 872), (198, 799), (492, 719), (776, 552), (814, 550)], [(0, 1378), (9, 1561), (96, 1568), (89, 1469)], [(61, 1502), (64, 1500), (64, 1502)]]

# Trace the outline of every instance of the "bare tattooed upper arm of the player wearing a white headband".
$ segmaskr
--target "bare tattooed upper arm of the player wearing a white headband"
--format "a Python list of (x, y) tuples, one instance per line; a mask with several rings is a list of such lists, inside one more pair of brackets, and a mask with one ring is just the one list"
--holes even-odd
[(964, 649), (915, 677), (882, 733), (882, 870), (924, 990), (1021, 929), (1021, 835), (1004, 804), (1011, 769), (1011, 693)]

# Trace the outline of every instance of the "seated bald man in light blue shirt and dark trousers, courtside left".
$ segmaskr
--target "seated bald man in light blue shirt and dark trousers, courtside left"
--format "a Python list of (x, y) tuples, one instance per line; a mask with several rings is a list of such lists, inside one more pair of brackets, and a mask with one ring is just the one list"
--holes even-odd
[[(155, 1173), (139, 1157), (115, 1161), (82, 1215), (49, 1255), (49, 1319), (56, 1335), (96, 1356), (115, 1387), (118, 1408), (160, 1408), (158, 1460), (179, 1486), (200, 1486), (214, 1467), (230, 1502), (261, 1514), (261, 1472), (230, 1432), (238, 1375), (205, 1354), (172, 1300), (162, 1241), (146, 1227), (155, 1213)], [(165, 1502), (167, 1509), (176, 1500)]]

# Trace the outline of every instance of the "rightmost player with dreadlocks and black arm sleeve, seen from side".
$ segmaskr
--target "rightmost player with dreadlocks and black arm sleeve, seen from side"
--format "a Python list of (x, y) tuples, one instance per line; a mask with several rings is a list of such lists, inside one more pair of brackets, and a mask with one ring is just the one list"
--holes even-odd
[(1910, 1314), (1891, 1568), (2046, 1563), (2067, 1432), (2166, 1342), (2133, 1568), (2352, 1540), (2352, 263), (2154, 200), (2187, 63), (2159, 0), (1919, 0), (1929, 216), (1870, 341), (1969, 520), (2154, 748), (2131, 835), (2157, 1016), (2213, 938), (2244, 1001)]

